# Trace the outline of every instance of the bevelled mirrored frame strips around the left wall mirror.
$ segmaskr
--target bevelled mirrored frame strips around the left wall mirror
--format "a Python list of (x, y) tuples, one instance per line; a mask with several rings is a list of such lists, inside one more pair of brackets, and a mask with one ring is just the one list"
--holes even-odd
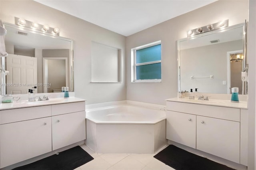
[[(38, 31), (38, 30), (33, 30), (31, 28), (27, 28), (27, 27), (22, 27), (22, 26), (18, 26), (18, 25), (15, 25), (15, 24), (10, 24), (8, 22), (2, 22), (2, 26), (5, 28), (5, 26), (9, 26), (9, 27), (12, 27), (12, 28), (16, 28), (18, 30), (24, 30), (24, 31), (27, 31), (27, 32), (31, 32), (32, 34), (39, 34), (39, 35), (42, 35), (42, 36), (48, 36), (48, 37), (51, 37), (51, 38), (57, 38), (57, 39), (60, 39), (60, 40), (64, 40), (64, 41), (68, 41), (70, 42), (70, 58), (69, 58), (69, 74), (70, 74), (70, 78), (69, 78), (69, 82), (70, 82), (70, 87), (69, 87), (69, 91), (70, 92), (74, 92), (74, 40), (72, 39), (69, 39), (69, 38), (64, 38), (64, 37), (61, 37), (61, 36), (57, 36), (57, 35), (54, 35), (54, 34), (50, 34), (50, 33), (47, 33), (47, 32), (42, 32), (42, 31)], [(7, 32), (8, 34), (8, 32)], [(8, 56), (7, 56), (8, 57)], [(1, 66), (4, 70), (6, 70), (6, 57), (1, 57)], [(1, 84), (6, 84), (6, 76), (4, 77), (1, 77)], [(6, 86), (2, 86), (2, 87), (5, 87), (5, 88), (1, 88), (1, 95), (5, 95), (6, 94)]]

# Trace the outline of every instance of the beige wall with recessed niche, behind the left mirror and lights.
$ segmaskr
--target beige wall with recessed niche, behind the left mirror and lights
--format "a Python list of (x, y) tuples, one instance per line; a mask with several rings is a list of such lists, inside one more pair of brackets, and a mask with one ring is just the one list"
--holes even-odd
[[(60, 28), (60, 36), (74, 40), (75, 96), (86, 104), (126, 99), (126, 37), (32, 0), (1, 0), (0, 19), (14, 24), (14, 16)], [(91, 44), (99, 42), (122, 49), (122, 83), (91, 82)]]

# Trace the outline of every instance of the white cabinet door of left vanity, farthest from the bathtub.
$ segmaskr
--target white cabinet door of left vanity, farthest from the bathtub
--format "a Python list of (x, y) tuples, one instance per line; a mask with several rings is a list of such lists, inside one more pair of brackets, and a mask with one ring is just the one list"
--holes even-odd
[(0, 125), (0, 168), (52, 151), (51, 117)]

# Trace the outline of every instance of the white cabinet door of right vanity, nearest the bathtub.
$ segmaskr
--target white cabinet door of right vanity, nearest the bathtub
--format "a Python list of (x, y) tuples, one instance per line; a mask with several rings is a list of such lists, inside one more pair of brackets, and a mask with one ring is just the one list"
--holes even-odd
[(166, 138), (196, 148), (196, 115), (167, 111)]

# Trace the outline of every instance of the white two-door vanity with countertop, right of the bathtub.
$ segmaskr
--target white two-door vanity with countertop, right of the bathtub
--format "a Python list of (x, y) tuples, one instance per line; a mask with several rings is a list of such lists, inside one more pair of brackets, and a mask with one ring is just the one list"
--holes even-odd
[(166, 138), (247, 166), (247, 103), (167, 99)]

